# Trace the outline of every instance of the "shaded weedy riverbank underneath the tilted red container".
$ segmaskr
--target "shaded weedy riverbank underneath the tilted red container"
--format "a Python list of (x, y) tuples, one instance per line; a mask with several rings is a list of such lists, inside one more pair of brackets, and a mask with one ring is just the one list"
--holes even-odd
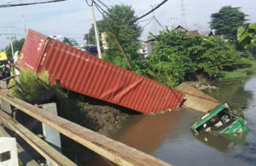
[[(47, 73), (45, 73), (43, 80), (47, 77), (46, 75)], [(113, 129), (119, 129), (121, 123), (129, 116), (129, 111), (124, 108), (94, 100), (83, 94), (62, 89), (59, 86), (47, 87), (45, 86), (45, 80), (42, 82), (42, 77), (38, 79), (35, 73), (22, 71), (20, 72), (20, 78), (22, 93), (18, 90), (14, 79), (12, 79), (9, 86), (15, 86), (9, 89), (11, 96), (31, 104), (55, 102), (60, 117), (102, 135), (108, 135)], [(47, 100), (44, 97), (44, 92), (51, 89), (55, 89), (55, 95)], [(61, 146), (63, 154), (79, 165), (88, 163), (94, 157), (93, 152), (64, 135), (61, 135)]]

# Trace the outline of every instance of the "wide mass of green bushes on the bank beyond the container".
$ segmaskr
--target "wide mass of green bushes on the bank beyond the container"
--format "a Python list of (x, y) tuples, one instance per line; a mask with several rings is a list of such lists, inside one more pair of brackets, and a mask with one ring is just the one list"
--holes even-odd
[(185, 31), (160, 31), (154, 54), (143, 66), (143, 75), (175, 87), (199, 73), (216, 78), (221, 71), (251, 66), (234, 44), (221, 37), (192, 36)]

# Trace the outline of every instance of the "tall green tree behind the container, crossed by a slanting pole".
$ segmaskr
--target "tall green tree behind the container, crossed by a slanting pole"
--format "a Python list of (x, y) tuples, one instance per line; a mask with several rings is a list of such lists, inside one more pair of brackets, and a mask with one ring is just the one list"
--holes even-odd
[[(133, 70), (139, 72), (140, 61), (137, 51), (140, 48), (138, 38), (142, 34), (142, 27), (133, 22), (137, 18), (134, 10), (131, 9), (131, 6), (115, 5), (112, 9), (108, 9), (106, 18), (130, 60)], [(113, 40), (112, 31), (110, 31), (109, 27), (106, 27), (105, 32), (107, 33), (107, 44), (109, 47), (106, 51), (105, 60), (127, 69), (128, 66), (125, 63), (124, 56), (121, 54), (118, 44)]]

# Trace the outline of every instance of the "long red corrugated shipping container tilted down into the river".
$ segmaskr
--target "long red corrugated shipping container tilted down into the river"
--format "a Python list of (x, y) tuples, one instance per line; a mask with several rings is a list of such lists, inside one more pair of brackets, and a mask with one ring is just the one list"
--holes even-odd
[(178, 108), (183, 94), (65, 43), (28, 31), (17, 66), (49, 73), (49, 83), (143, 113)]

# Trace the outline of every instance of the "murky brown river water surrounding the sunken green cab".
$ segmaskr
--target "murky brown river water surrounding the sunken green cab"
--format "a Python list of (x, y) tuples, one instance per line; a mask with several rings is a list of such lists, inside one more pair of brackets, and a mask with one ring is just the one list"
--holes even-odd
[[(217, 83), (209, 92), (237, 109), (247, 105), (249, 132), (241, 136), (193, 136), (190, 126), (203, 113), (186, 109), (158, 115), (134, 115), (112, 138), (174, 165), (256, 165), (256, 72), (242, 79)], [(113, 165), (95, 157), (89, 165)]]

